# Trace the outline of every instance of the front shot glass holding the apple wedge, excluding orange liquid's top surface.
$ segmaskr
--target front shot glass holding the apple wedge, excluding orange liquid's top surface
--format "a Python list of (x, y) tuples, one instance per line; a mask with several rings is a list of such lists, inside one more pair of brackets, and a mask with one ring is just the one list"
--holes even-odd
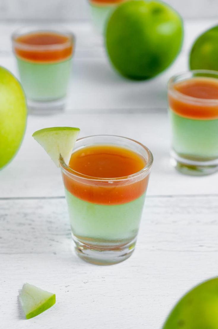
[(133, 151), (145, 164), (129, 176), (102, 178), (74, 171), (60, 158), (76, 253), (89, 263), (112, 265), (134, 251), (153, 157), (141, 143), (110, 135), (78, 139), (73, 152), (100, 145)]

